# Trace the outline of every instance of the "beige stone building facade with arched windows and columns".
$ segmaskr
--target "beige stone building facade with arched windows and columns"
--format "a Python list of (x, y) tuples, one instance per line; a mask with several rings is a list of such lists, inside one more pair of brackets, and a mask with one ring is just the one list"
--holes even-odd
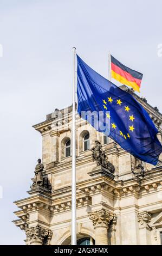
[[(135, 95), (158, 127), (162, 115)], [(69, 245), (72, 205), (72, 107), (48, 114), (33, 126), (42, 136), (42, 182), (17, 200), (17, 227), (27, 245)], [(114, 166), (97, 166), (90, 150), (98, 140)], [(160, 245), (162, 241), (162, 157), (157, 166), (135, 159), (112, 139), (76, 118), (77, 241), (86, 245)], [(34, 180), (33, 180), (34, 181)]]

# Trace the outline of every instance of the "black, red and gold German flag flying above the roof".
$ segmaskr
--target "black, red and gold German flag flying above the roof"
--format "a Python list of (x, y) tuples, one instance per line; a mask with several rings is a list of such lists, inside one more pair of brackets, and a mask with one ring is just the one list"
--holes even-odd
[(137, 92), (140, 92), (142, 74), (129, 69), (127, 66), (121, 64), (117, 59), (111, 55), (111, 70), (112, 77), (122, 84), (131, 86)]

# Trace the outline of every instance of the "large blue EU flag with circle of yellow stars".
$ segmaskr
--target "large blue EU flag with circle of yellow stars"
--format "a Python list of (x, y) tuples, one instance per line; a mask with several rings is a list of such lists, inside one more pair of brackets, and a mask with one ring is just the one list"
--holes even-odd
[(138, 159), (157, 164), (162, 147), (156, 136), (158, 130), (148, 113), (131, 94), (99, 75), (79, 56), (77, 99), (80, 117)]

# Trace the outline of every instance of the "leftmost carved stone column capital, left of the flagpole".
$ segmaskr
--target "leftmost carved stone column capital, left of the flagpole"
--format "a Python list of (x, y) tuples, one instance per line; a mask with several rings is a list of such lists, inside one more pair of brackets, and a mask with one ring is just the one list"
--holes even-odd
[(46, 239), (46, 245), (49, 245), (49, 241), (53, 235), (50, 229), (36, 225), (36, 227), (30, 227), (25, 230), (28, 239), (28, 245), (43, 245)]

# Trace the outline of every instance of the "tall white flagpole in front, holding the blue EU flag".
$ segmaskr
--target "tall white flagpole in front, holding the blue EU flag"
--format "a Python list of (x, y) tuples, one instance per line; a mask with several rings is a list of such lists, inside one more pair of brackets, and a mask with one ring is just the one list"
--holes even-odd
[(72, 245), (76, 245), (76, 143), (75, 143), (75, 57), (73, 47), (73, 124), (72, 124)]

